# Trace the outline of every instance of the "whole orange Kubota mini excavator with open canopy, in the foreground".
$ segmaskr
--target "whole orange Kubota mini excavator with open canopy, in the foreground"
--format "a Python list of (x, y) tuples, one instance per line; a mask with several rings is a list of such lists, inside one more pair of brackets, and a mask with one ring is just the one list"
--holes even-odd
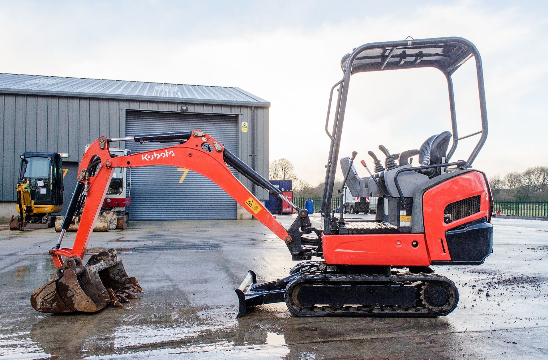
[[(458, 136), (452, 74), (472, 58), (477, 71), (481, 130)], [(483, 172), (471, 167), (487, 138), (479, 53), (463, 38), (411, 39), (362, 45), (345, 55), (341, 65), (344, 76), (332, 88), (326, 120), (331, 145), (321, 228), (312, 226), (305, 209), (284, 198), (265, 178), (200, 130), (112, 139), (102, 136), (83, 156), (59, 241), (49, 251), (58, 266), (58, 277), (32, 293), (32, 306), (42, 312), (94, 312), (142, 292), (135, 278), (126, 274), (115, 251), (94, 254), (85, 266), (82, 259), (113, 171), (118, 167), (171, 165), (211, 179), (284, 241), (293, 260), (305, 260), (287, 277), (267, 283), (256, 283), (254, 272), (249, 271), (236, 289), (238, 316), (249, 307), (282, 301), (297, 316), (429, 317), (453, 311), (458, 289), (448, 278), (434, 274), (430, 266), (480, 265), (493, 248), (489, 184)], [(353, 180), (359, 193), (378, 196), (375, 220), (347, 219), (343, 211), (335, 213), (331, 198), (352, 75), (418, 67), (437, 68), (446, 77), (452, 131), (430, 136), (420, 146), (417, 144), (417, 149), (402, 149), (397, 155), (380, 146), (386, 157), (384, 165), (371, 152), (374, 172)], [(334, 124), (329, 132), (329, 111), (336, 88)], [(473, 135), (480, 136), (469, 158), (452, 161), (458, 142)], [(109, 144), (117, 141), (178, 144), (115, 156)], [(416, 155), (420, 164), (414, 166), (409, 158)], [(355, 156), (353, 153), (341, 161), (345, 183), (351, 171), (356, 175), (352, 165)], [(295, 208), (298, 215), (294, 223), (285, 229), (227, 165)], [(82, 204), (75, 242), (72, 247), (63, 247), (65, 230)], [(310, 261), (312, 257), (317, 260)]]

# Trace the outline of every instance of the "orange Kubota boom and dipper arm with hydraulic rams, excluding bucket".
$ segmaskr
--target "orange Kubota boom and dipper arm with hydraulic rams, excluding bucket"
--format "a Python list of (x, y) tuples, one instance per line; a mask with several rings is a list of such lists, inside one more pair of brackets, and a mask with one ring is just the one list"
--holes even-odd
[[(176, 139), (176, 137), (177, 136), (173, 135), (173, 133), (151, 134), (147, 136), (136, 136), (135, 141), (165, 142), (170, 140), (175, 142), (180, 140)], [(78, 256), (81, 259), (84, 257), (89, 239), (92, 235), (95, 220), (99, 216), (101, 204), (105, 198), (113, 171), (116, 167), (169, 165), (184, 167), (195, 171), (219, 185), (221, 189), (225, 190), (227, 194), (238, 202), (238, 204), (267, 228), (272, 230), (280, 239), (284, 240), (286, 243), (292, 242), (292, 236), (288, 234), (288, 231), (284, 229), (282, 224), (280, 224), (260, 201), (233, 175), (232, 171), (227, 166), (227, 163), (262, 187), (267, 188), (270, 183), (266, 184), (264, 178), (256, 173), (253, 174), (253, 170), (239, 161), (235, 155), (230, 153), (229, 150), (225, 149), (219, 142), (206, 133), (200, 130), (193, 130), (192, 132), (185, 133), (184, 137), (186, 137), (186, 141), (181, 142), (178, 145), (127, 156), (112, 155), (108, 146), (111, 140), (106, 137), (98, 138), (98, 140), (88, 148), (82, 158), (78, 171), (78, 184), (62, 227), (66, 230), (68, 225), (70, 225), (73, 214), (77, 212), (78, 196), (84, 190), (85, 183), (88, 182), (82, 218), (76, 233), (76, 239), (72, 248), (61, 247), (62, 236), (65, 233), (65, 231), (61, 231), (58, 244), (50, 250), (50, 255), (52, 255), (55, 265), (61, 266), (64, 263), (62, 256)], [(128, 138), (124, 139), (127, 140)], [(98, 164), (100, 164), (99, 170), (90, 174), (90, 168), (97, 166)], [(269, 189), (271, 193), (274, 190), (277, 189)], [(298, 210), (303, 212), (300, 209)], [(306, 216), (305, 213), (303, 214)], [(301, 214), (301, 218), (305, 218), (305, 216), (302, 216)]]

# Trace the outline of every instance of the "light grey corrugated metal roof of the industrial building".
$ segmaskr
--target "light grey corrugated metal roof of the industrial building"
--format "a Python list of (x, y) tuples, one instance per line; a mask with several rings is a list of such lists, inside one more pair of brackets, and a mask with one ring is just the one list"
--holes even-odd
[(144, 83), (0, 73), (0, 92), (36, 95), (109, 97), (135, 100), (270, 106), (260, 97), (226, 86)]

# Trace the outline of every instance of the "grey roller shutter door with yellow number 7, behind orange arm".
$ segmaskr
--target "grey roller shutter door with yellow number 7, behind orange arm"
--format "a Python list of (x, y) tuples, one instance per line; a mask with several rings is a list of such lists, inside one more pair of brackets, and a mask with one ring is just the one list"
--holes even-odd
[[(125, 136), (200, 129), (238, 154), (236, 116), (131, 112), (125, 118)], [(175, 143), (125, 142), (133, 153), (155, 150)], [(235, 173), (233, 171), (233, 173)], [(236, 201), (208, 178), (174, 166), (132, 169), (128, 210), (132, 220), (236, 219)], [(182, 179), (182, 182), (181, 182)]]

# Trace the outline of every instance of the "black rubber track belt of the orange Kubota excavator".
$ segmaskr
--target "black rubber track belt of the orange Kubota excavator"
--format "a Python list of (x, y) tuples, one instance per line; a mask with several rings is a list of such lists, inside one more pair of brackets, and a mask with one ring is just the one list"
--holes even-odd
[[(426, 282), (441, 281), (448, 284), (452, 290), (452, 299), (443, 307), (431, 308), (422, 304), (420, 297), (417, 298), (418, 306), (403, 309), (402, 307), (382, 306), (343, 306), (335, 309), (331, 306), (313, 306), (311, 309), (301, 309), (293, 304), (292, 293), (296, 287), (303, 284), (356, 284), (356, 285), (379, 285), (390, 283), (416, 283), (416, 293), (420, 294)], [(437, 317), (444, 316), (455, 310), (459, 302), (459, 292), (453, 281), (447, 277), (437, 274), (391, 274), (391, 275), (341, 275), (341, 274), (306, 274), (296, 278), (287, 286), (284, 294), (287, 308), (296, 316), (372, 316), (372, 317)], [(419, 305), (420, 304), (420, 305)]]

